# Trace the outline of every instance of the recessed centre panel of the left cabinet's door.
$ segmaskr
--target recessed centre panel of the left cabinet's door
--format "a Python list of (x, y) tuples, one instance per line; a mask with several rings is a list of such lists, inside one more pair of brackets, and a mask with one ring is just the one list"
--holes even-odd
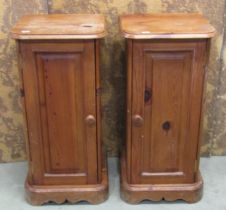
[(41, 53), (37, 60), (46, 105), (41, 106), (46, 172), (86, 175), (81, 54)]

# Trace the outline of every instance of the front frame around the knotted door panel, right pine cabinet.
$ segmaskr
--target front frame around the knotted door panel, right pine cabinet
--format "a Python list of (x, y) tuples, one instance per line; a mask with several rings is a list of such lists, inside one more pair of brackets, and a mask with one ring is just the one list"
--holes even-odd
[[(146, 177), (146, 180), (142, 178), (142, 169), (141, 166), (141, 159), (140, 156), (141, 152), (141, 141), (133, 140), (134, 136), (142, 136), (142, 126), (139, 128), (135, 128), (133, 125), (133, 117), (137, 114), (137, 110), (133, 111), (134, 109), (134, 96), (133, 96), (133, 83), (136, 78), (139, 77), (139, 73), (144, 71), (139, 69), (135, 69), (134, 65), (137, 65), (138, 62), (144, 62), (143, 55), (141, 51), (137, 52), (135, 47), (141, 47), (144, 51), (153, 51), (153, 52), (175, 52), (175, 51), (193, 51), (193, 58), (192, 58), (192, 81), (191, 81), (191, 96), (193, 97), (193, 104), (191, 105), (193, 110), (192, 115), (197, 113), (198, 126), (196, 126), (196, 130), (193, 133), (193, 142), (194, 144), (190, 145), (189, 151), (192, 151), (192, 160), (189, 163), (190, 170), (187, 170), (190, 173), (189, 180), (179, 180), (178, 176), (171, 176), (170, 178), (167, 176), (161, 176), (163, 174), (159, 174), (150, 177)], [(206, 63), (206, 52), (208, 52), (208, 41), (206, 39), (200, 40), (132, 40), (127, 39), (127, 141), (126, 141), (126, 162), (127, 162), (127, 177), (128, 182), (132, 184), (145, 184), (145, 183), (192, 183), (196, 179), (197, 169), (198, 169), (198, 162), (199, 162), (199, 147), (200, 147), (200, 126), (201, 126), (201, 115), (202, 115), (202, 93), (203, 93), (203, 84), (205, 78), (205, 63)], [(139, 54), (139, 55), (137, 55)], [(137, 60), (135, 60), (135, 56), (138, 56)], [(141, 59), (141, 61), (139, 61)], [(143, 66), (141, 64), (141, 66)], [(144, 68), (144, 67), (141, 67)], [(141, 76), (142, 77), (142, 76)], [(195, 90), (198, 91), (195, 94)], [(143, 98), (143, 94), (141, 93), (141, 98)], [(142, 103), (142, 102), (139, 102)], [(198, 107), (198, 108), (195, 108)], [(196, 110), (196, 111), (194, 111)], [(139, 113), (138, 113), (139, 114)], [(141, 113), (142, 115), (142, 113)], [(193, 117), (194, 118), (194, 117)], [(193, 119), (194, 122), (194, 119)], [(144, 120), (145, 123), (145, 120)], [(192, 122), (190, 122), (192, 124)], [(154, 155), (154, 154), (153, 154)]]

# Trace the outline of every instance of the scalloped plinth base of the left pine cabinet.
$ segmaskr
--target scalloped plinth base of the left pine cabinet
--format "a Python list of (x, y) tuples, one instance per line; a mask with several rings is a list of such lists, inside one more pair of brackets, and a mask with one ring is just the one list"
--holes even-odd
[(42, 205), (48, 202), (61, 204), (87, 201), (99, 204), (108, 198), (107, 169), (102, 171), (102, 182), (92, 185), (31, 185), (25, 182), (26, 199), (32, 205)]

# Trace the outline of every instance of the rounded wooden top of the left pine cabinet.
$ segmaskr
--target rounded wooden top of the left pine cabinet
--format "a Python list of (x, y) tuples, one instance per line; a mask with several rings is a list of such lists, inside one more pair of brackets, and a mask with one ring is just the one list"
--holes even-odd
[(106, 35), (99, 14), (42, 14), (22, 17), (11, 30), (13, 39), (98, 39)]

